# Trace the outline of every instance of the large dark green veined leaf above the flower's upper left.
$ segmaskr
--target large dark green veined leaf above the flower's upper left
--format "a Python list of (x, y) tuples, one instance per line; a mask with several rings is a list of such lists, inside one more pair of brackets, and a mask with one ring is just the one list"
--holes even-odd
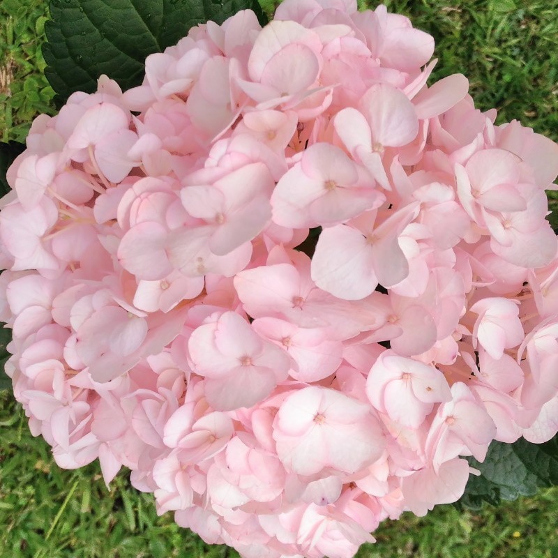
[(103, 74), (122, 89), (139, 85), (146, 56), (176, 44), (199, 23), (222, 23), (247, 8), (264, 20), (256, 0), (52, 0), (43, 55), (56, 102), (96, 91)]

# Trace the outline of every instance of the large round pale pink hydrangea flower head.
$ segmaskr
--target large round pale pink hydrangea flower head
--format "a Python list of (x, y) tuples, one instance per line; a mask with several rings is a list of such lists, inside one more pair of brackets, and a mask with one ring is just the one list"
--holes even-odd
[(245, 558), (349, 558), (492, 440), (556, 434), (558, 146), (427, 86), (433, 49), (385, 6), (286, 0), (34, 121), (0, 319), (61, 467), (129, 467)]

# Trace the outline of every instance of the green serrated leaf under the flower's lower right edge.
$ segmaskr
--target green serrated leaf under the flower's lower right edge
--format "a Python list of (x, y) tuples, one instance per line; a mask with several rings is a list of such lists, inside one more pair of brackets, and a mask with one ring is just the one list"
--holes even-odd
[(523, 438), (513, 444), (492, 442), (483, 463), (473, 458), (469, 463), (481, 476), (469, 477), (459, 506), (478, 509), (483, 502), (532, 496), (539, 488), (558, 485), (558, 436), (545, 444)]

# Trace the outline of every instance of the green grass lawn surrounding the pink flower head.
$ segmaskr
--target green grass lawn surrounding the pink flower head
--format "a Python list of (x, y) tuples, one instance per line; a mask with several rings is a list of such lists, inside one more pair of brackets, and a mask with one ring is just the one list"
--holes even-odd
[[(262, 0), (270, 13), (273, 4)], [(518, 119), (558, 140), (558, 0), (386, 6), (435, 37), (433, 79), (465, 73), (477, 106), (498, 108), (497, 123)], [(1, 141), (23, 141), (36, 114), (54, 114), (40, 54), (47, 18), (45, 1), (0, 0)], [(121, 472), (108, 492), (98, 463), (59, 469), (43, 439), (29, 434), (20, 405), (0, 392), (0, 558), (237, 556), (207, 547), (177, 527), (172, 514), (158, 518), (151, 495), (135, 491), (126, 477)], [(377, 544), (363, 547), (359, 558), (556, 558), (558, 488), (481, 511), (438, 506), (426, 518), (406, 513), (375, 536)]]

